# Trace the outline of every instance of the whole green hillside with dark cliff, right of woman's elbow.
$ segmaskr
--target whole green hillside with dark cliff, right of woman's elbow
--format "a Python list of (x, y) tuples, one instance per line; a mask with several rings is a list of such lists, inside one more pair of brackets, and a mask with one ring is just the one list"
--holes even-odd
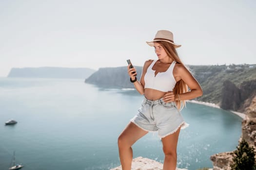
[[(203, 88), (199, 101), (244, 111), (256, 94), (256, 67), (250, 65), (190, 67)], [(248, 101), (246, 101), (248, 99)]]

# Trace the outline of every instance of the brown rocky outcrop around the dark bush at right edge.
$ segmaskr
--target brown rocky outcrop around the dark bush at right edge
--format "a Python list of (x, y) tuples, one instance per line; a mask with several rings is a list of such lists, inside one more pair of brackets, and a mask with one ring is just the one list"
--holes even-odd
[[(239, 141), (244, 139), (249, 146), (256, 149), (256, 96), (253, 98), (249, 107), (246, 108), (246, 119), (242, 121), (242, 135)], [(233, 152), (217, 153), (211, 156), (213, 170), (231, 170), (233, 164)]]

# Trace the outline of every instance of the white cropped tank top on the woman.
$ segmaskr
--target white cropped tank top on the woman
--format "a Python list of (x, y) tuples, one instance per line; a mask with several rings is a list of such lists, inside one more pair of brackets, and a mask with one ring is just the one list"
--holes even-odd
[(158, 74), (155, 76), (155, 70), (152, 68), (156, 62), (157, 60), (154, 60), (147, 69), (144, 76), (144, 88), (152, 88), (163, 92), (172, 91), (176, 85), (176, 80), (173, 75), (173, 68), (176, 61), (173, 61), (165, 72), (158, 72)]

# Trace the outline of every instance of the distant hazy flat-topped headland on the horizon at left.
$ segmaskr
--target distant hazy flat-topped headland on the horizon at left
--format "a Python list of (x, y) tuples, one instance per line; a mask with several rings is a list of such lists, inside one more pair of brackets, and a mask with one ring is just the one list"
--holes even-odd
[(84, 79), (94, 72), (90, 68), (12, 68), (7, 77)]

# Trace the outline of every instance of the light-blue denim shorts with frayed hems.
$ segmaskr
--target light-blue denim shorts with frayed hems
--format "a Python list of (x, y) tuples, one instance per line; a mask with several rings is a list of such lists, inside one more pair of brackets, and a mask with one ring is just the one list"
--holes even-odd
[(181, 126), (184, 129), (188, 124), (184, 121), (175, 102), (156, 101), (144, 98), (138, 114), (131, 119), (139, 128), (151, 132), (158, 131), (160, 138), (175, 133)]

